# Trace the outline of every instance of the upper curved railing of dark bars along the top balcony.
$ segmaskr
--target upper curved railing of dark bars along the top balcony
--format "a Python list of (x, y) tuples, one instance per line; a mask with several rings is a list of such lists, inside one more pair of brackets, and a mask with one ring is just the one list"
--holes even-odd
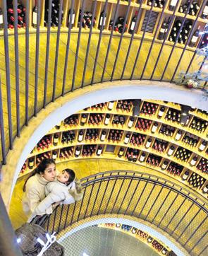
[[(1, 2), (4, 21), (7, 21), (6, 0)], [(176, 81), (182, 66), (183, 70), (186, 72), (191, 70), (193, 66), (195, 66), (195, 70), (197, 69), (198, 61), (195, 58), (196, 51), (190, 50), (187, 46), (194, 32), (197, 19), (200, 18), (200, 13), (202, 13), (204, 5), (206, 4), (205, 1), (197, 12), (195, 21), (193, 21), (192, 24), (192, 30), (188, 35), (188, 40), (185, 45), (183, 45), (183, 50), (178, 48), (176, 43), (172, 45), (169, 43), (167, 44), (167, 38), (171, 30), (171, 25), (173, 25), (174, 18), (176, 17), (176, 9), (180, 1), (178, 1), (177, 6), (173, 11), (173, 15), (170, 16), (170, 25), (164, 40), (160, 42), (157, 40), (157, 33), (152, 35), (151, 40), (146, 36), (149, 18), (152, 11), (154, 11), (154, 1), (152, 1), (152, 6), (149, 7), (150, 11), (147, 13), (147, 23), (140, 35), (137, 35), (137, 25), (142, 18), (142, 0), (138, 1), (137, 4), (128, 0), (128, 6), (126, 7), (123, 7), (120, 0), (117, 1), (115, 12), (111, 17), (114, 20), (111, 33), (106, 33), (106, 30), (103, 30), (104, 18), (100, 24), (100, 30), (94, 29), (92, 22), (88, 32), (82, 33), (82, 17), (85, 11), (85, 2), (85, 0), (82, 0), (80, 4), (82, 8), (78, 29), (72, 28), (73, 8), (75, 6), (75, 0), (73, 0), (71, 1), (71, 6), (68, 6), (68, 9), (71, 9), (71, 19), (68, 23), (68, 28), (61, 28), (61, 12), (59, 12), (58, 29), (51, 31), (49, 21), (47, 28), (42, 27), (42, 1), (38, 0), (37, 28), (36, 33), (34, 33), (34, 29), (30, 29), (29, 27), (31, 24), (30, 19), (32, 18), (30, 0), (26, 0), (26, 28), (25, 30), (21, 29), (20, 33), (18, 33), (17, 0), (13, 0), (14, 33), (12, 35), (10, 32), (8, 33), (7, 22), (4, 22), (4, 33), (0, 35), (2, 46), (0, 55), (2, 58), (0, 67), (0, 161), (2, 160), (4, 164), (6, 163), (8, 149), (13, 149), (14, 138), (20, 136), (20, 129), (22, 129), (24, 125), (27, 126), (30, 118), (36, 116), (37, 112), (43, 107), (46, 107), (47, 104), (54, 102), (56, 98), (66, 95), (68, 92), (73, 92), (78, 88), (93, 85), (94, 83), (123, 79), (146, 79), (174, 82)], [(97, 6), (101, 8), (101, 2), (97, 0), (92, 2), (94, 3), (92, 6), (93, 21), (93, 18), (96, 15)], [(51, 1), (49, 1), (49, 3), (51, 3)], [(106, 0), (103, 4), (105, 16), (109, 4), (111, 5), (112, 3), (109, 3), (109, 1)], [(62, 5), (63, 0), (60, 0), (60, 10)], [(86, 6), (86, 8), (87, 7), (88, 6)], [(128, 21), (129, 13), (131, 13), (130, 17), (133, 15), (131, 8), (133, 8), (134, 11), (137, 11), (137, 15), (135, 15), (135, 26), (133, 31), (131, 31), (131, 34), (126, 33), (126, 27), (123, 26), (123, 30), (118, 37), (118, 34), (114, 33), (114, 25), (118, 18), (120, 8), (127, 8), (124, 23)], [(164, 12), (165, 8), (166, 5), (164, 4), (164, 8), (162, 8), (161, 13), (159, 13), (160, 18), (156, 30), (159, 30), (161, 27), (161, 22), (166, 15)], [(51, 12), (51, 8), (49, 8), (49, 12)], [(187, 19), (186, 15), (187, 13), (182, 18), (183, 21), (180, 29), (183, 28)], [(50, 18), (50, 15), (48, 15), (48, 17)], [(99, 17), (97, 17), (97, 22), (100, 23)], [(130, 23), (131, 21), (128, 22)], [(92, 36), (94, 36), (93, 40)], [(50, 40), (51, 38), (53, 40)], [(138, 44), (135, 44), (135, 42), (138, 42)], [(75, 49), (73, 49), (72, 45), (75, 45)], [(106, 51), (103, 50), (103, 45), (107, 45)], [(13, 47), (15, 48), (15, 53), (13, 53)], [(125, 47), (126, 51), (123, 50), (123, 47)], [(157, 50), (153, 50), (154, 47), (157, 47)], [(44, 52), (43, 49), (46, 49), (46, 52)], [(178, 54), (180, 55), (180, 58), (178, 59), (178, 62), (176, 62), (174, 70), (171, 69), (171, 73), (169, 74), (169, 63), (173, 58), (176, 59), (175, 56), (173, 57), (173, 52), (177, 49), (180, 49), (180, 54)], [(35, 52), (35, 54), (32, 54), (32, 50), (34, 50), (33, 52)], [(84, 57), (79, 56), (81, 50), (81, 55)], [(170, 54), (167, 54), (169, 50), (171, 50), (171, 52)], [(147, 57), (142, 56), (143, 51), (148, 52)], [(185, 59), (187, 58), (187, 54), (185, 54), (187, 51), (190, 54), (190, 62)], [(152, 58), (153, 52), (156, 52), (154, 58)], [(164, 56), (166, 56), (167, 59), (164, 59)], [(151, 58), (156, 59), (153, 69)], [(166, 62), (165, 66), (164, 62)], [(183, 65), (181, 66), (182, 63)], [(140, 66), (139, 69), (137, 68), (138, 65)], [(118, 66), (119, 72), (116, 70)], [(149, 71), (147, 72), (150, 67), (152, 73)]]

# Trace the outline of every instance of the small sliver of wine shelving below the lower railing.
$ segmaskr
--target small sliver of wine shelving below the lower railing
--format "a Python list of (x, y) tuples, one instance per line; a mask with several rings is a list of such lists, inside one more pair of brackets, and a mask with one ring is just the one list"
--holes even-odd
[(132, 235), (134, 238), (142, 241), (146, 245), (150, 246), (155, 250), (159, 255), (176, 255), (168, 246), (164, 245), (161, 241), (149, 235), (147, 232), (142, 231), (133, 226), (129, 226), (121, 223), (104, 223), (98, 225), (100, 228), (109, 228), (115, 231), (120, 231)]

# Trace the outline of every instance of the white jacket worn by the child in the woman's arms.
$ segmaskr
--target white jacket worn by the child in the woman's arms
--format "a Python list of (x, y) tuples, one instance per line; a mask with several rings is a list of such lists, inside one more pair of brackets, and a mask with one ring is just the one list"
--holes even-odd
[(69, 190), (75, 190), (75, 182), (71, 182), (68, 186), (58, 180), (48, 182), (45, 186), (46, 197), (38, 204), (35, 210), (44, 212), (44, 210), (51, 206), (51, 204), (59, 201), (63, 201), (63, 204), (73, 204), (75, 199), (69, 194)]

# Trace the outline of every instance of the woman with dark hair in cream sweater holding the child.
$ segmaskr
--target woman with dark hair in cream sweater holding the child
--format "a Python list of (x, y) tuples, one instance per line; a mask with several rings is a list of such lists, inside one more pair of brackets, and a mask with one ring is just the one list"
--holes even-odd
[(56, 163), (52, 159), (44, 159), (39, 163), (38, 167), (32, 172), (29, 178), (25, 181), (23, 192), (23, 211), (29, 215), (27, 222), (32, 221), (35, 216), (51, 214), (52, 206), (40, 212), (37, 208), (39, 203), (45, 198), (45, 185), (48, 182), (54, 181), (56, 178)]

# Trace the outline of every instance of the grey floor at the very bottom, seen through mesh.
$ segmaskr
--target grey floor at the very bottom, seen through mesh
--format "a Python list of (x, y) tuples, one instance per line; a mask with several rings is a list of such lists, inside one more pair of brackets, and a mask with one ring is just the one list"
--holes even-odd
[[(68, 236), (61, 245), (66, 256), (156, 256), (152, 248), (131, 235), (91, 226)], [(84, 254), (85, 255), (85, 254)]]

